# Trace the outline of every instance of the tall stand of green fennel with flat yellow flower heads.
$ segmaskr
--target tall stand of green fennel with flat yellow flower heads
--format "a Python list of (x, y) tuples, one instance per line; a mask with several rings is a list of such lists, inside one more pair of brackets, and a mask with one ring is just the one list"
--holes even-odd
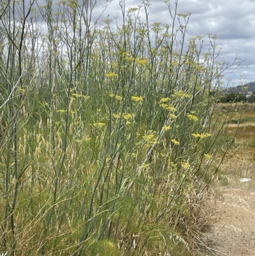
[(219, 166), (210, 91), (226, 66), (215, 36), (202, 52), (201, 36), (186, 40), (190, 14), (166, 4), (171, 26), (149, 26), (147, 1), (126, 12), (120, 3), (117, 27), (92, 24), (86, 1), (60, 1), (57, 13), (50, 0), (1, 7), (3, 252), (192, 250)]

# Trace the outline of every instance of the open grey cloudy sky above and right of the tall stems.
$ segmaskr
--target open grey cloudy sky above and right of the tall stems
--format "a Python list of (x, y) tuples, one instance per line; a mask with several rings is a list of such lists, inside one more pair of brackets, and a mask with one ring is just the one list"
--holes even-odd
[[(122, 0), (124, 1), (124, 0)], [(94, 17), (101, 13), (105, 0), (98, 0), (94, 9)], [(149, 22), (171, 24), (168, 8), (161, 0), (150, 0)], [(142, 5), (142, 0), (126, 0), (128, 7)], [(172, 7), (175, 1), (170, 1)], [(144, 19), (143, 8), (140, 16)], [(237, 86), (240, 75), (246, 77), (247, 82), (255, 81), (255, 0), (179, 0), (177, 13), (192, 13), (189, 19), (187, 38), (202, 35), (207, 38), (207, 33), (217, 34), (217, 45), (221, 47), (219, 61), (232, 63), (238, 56), (244, 60), (245, 68), (240, 72), (226, 75), (231, 79), (231, 84)], [(99, 19), (121, 17), (119, 0), (112, 0), (105, 13)], [(205, 40), (204, 50), (209, 47)]]

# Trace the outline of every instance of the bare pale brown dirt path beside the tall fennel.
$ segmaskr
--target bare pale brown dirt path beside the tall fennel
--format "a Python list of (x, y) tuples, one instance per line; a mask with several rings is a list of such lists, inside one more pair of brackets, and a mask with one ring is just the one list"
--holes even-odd
[(210, 206), (203, 255), (255, 256), (255, 190), (220, 188), (219, 195)]

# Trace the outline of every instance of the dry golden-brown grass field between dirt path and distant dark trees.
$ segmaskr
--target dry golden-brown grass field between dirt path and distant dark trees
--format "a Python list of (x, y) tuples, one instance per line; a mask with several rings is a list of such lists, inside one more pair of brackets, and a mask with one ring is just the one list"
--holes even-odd
[[(223, 114), (232, 110), (232, 114), (228, 116), (231, 117), (233, 123), (228, 124), (226, 132), (229, 137), (235, 138), (233, 146), (221, 165), (222, 172), (228, 176), (227, 185), (235, 188), (255, 188), (255, 121), (251, 122), (252, 117), (255, 117), (255, 104), (224, 103), (217, 106), (217, 111), (219, 110), (222, 110)], [(238, 124), (240, 120), (242, 122)], [(250, 121), (245, 123), (245, 120)], [(242, 177), (252, 179), (252, 181), (241, 183)]]

